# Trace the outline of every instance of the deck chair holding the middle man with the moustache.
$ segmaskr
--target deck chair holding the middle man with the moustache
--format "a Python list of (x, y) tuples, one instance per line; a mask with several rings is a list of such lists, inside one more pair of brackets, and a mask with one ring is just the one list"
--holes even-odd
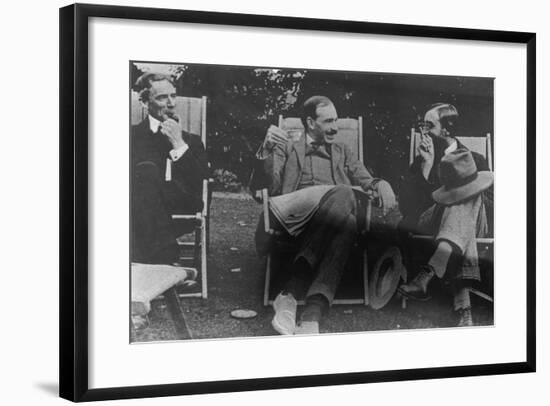
[[(283, 130), (286, 130), (291, 137), (300, 137), (304, 131), (304, 127), (302, 125), (302, 122), (299, 118), (283, 118), (283, 116), (279, 116), (279, 127)], [(350, 146), (352, 152), (355, 154), (355, 157), (363, 161), (363, 122), (362, 117), (358, 117), (357, 119), (353, 118), (343, 118), (338, 120), (338, 135), (337, 139), (339, 141), (343, 141), (347, 145)], [(374, 196), (373, 196), (374, 198)], [(277, 231), (275, 231), (271, 225), (270, 225), (270, 219), (269, 219), (269, 196), (268, 196), (268, 190), (262, 189), (261, 190), (261, 201), (263, 204), (263, 220), (264, 220), (264, 226), (265, 231), (267, 234), (274, 235), (277, 238)], [(364, 230), (362, 231), (362, 234), (366, 234), (366, 232), (370, 229), (370, 219), (371, 219), (371, 213), (372, 213), (372, 199), (367, 199), (364, 205), (365, 209), (365, 225)], [(362, 297), (360, 298), (352, 298), (352, 299), (344, 299), (344, 298), (336, 298), (334, 300), (334, 304), (364, 304), (369, 305), (371, 301), (369, 300), (370, 294), (373, 293), (371, 280), (369, 277), (369, 262), (367, 257), (367, 249), (366, 244), (363, 244), (363, 241), (360, 241), (358, 243), (359, 251), (360, 251), (360, 267), (362, 271), (362, 279), (363, 279), (363, 286), (362, 286)], [(269, 252), (266, 256), (266, 272), (265, 272), (265, 282), (264, 282), (264, 297), (263, 297), (263, 304), (264, 306), (272, 304), (272, 300), (270, 300), (270, 286), (271, 286), (271, 280), (272, 280), (272, 268), (273, 268), (273, 252)], [(379, 261), (380, 262), (380, 261)], [(378, 266), (380, 268), (378, 262), (375, 266)], [(377, 269), (378, 269), (377, 268)], [(401, 272), (400, 269), (397, 269), (398, 272)], [(375, 273), (375, 276), (381, 276), (378, 272)], [(380, 279), (382, 280), (382, 278)], [(387, 281), (384, 280), (384, 281)], [(394, 283), (394, 292), (395, 289), (397, 289), (397, 282)], [(379, 286), (379, 283), (376, 282), (374, 286)], [(393, 295), (390, 294), (390, 297)], [(377, 303), (376, 308), (380, 308), (383, 305), (387, 303), (387, 299), (384, 300), (384, 302)], [(303, 301), (298, 301), (299, 304), (303, 304)]]

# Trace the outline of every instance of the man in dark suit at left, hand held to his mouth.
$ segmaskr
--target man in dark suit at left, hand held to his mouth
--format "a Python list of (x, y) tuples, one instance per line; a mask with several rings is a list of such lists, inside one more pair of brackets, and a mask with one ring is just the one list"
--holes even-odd
[(204, 145), (175, 113), (176, 88), (168, 75), (146, 73), (136, 82), (148, 117), (132, 127), (132, 261), (173, 264), (176, 238), (188, 232), (171, 215), (202, 210), (208, 177)]

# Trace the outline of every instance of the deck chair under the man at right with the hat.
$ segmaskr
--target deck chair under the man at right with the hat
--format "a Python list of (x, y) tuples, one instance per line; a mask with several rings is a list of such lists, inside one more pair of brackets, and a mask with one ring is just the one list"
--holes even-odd
[[(466, 148), (470, 151), (477, 152), (485, 157), (489, 170), (493, 170), (493, 152), (491, 146), (491, 134), (487, 133), (482, 137), (456, 137)], [(414, 159), (417, 156), (418, 146), (420, 145), (420, 133), (411, 128), (411, 143), (409, 150), (409, 166), (413, 164)], [(413, 234), (410, 236), (413, 240), (430, 240), (432, 236)], [(479, 256), (487, 253), (491, 246), (494, 244), (494, 238), (477, 238), (478, 254)], [(470, 293), (473, 293), (489, 302), (493, 302), (492, 296), (485, 292), (481, 292), (478, 289), (471, 288)], [(406, 298), (403, 298), (403, 307), (406, 307)]]

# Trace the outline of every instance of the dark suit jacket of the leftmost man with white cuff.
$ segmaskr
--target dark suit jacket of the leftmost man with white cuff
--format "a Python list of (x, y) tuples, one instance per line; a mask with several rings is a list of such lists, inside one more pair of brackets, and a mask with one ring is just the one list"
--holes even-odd
[[(183, 131), (183, 140), (189, 149), (177, 161), (172, 162), (172, 180), (184, 192), (200, 197), (202, 180), (209, 177), (206, 151), (200, 137)], [(132, 127), (132, 168), (139, 162), (154, 162), (162, 176), (166, 171), (166, 159), (172, 144), (164, 134), (153, 134), (149, 118)]]

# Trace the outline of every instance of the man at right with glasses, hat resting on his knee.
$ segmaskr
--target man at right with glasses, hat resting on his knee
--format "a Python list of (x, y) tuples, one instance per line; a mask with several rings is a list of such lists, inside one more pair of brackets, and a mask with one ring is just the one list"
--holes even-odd
[[(479, 181), (478, 173), (488, 176), (485, 173), (489, 167), (482, 155), (471, 151), (464, 154), (467, 149), (455, 138), (457, 123), (456, 107), (438, 103), (426, 112), (420, 126), (421, 142), (417, 156), (401, 187), (399, 208), (403, 220), (400, 228), (406, 232), (435, 235), (435, 249), (418, 275), (402, 285), (399, 291), (407, 297), (425, 300), (433, 277), (443, 278), (449, 270), (458, 324), (469, 326), (473, 325), (473, 319), (468, 287), (472, 280), (480, 280), (477, 249), (472, 238), (488, 234), (493, 203), (490, 185), (480, 188), (476, 183), (468, 186), (478, 187), (473, 196), (462, 195), (459, 191), (452, 199), (436, 199), (437, 191), (442, 188), (451, 191), (474, 182), (473, 179), (463, 179), (460, 181), (462, 185), (446, 184), (449, 179), (445, 178), (442, 163), (448, 167), (460, 167), (468, 161), (468, 165), (476, 169), (475, 174), (472, 172), (475, 182)], [(479, 202), (474, 202), (475, 199)], [(451, 261), (452, 258), (457, 258), (457, 261)]]

